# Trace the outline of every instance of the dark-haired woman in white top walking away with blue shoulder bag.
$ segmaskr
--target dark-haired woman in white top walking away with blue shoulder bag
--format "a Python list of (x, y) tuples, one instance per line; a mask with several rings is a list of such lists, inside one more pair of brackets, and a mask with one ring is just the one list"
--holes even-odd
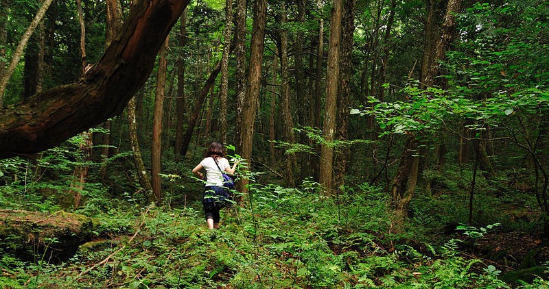
[(200, 179), (204, 179), (204, 174), (200, 173), (200, 171), (202, 168), (206, 170), (206, 186), (202, 204), (204, 205), (206, 222), (209, 229), (217, 229), (219, 227), (219, 211), (223, 206), (220, 205), (219, 201), (216, 203), (217, 199), (213, 196), (221, 194), (224, 190), (221, 173), (225, 171), (233, 175), (237, 164), (238, 161), (231, 168), (229, 161), (225, 158), (223, 146), (219, 142), (213, 142), (204, 154), (204, 160), (193, 168), (193, 173)]

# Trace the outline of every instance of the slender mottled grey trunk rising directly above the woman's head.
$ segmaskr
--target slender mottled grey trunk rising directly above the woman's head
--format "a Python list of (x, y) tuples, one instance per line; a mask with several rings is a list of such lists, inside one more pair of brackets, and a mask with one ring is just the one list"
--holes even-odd
[(220, 88), (220, 140), (227, 143), (227, 97), (229, 96), (229, 53), (231, 53), (231, 35), (233, 34), (233, 0), (225, 1), (225, 29), (223, 31), (223, 56), (221, 59)]

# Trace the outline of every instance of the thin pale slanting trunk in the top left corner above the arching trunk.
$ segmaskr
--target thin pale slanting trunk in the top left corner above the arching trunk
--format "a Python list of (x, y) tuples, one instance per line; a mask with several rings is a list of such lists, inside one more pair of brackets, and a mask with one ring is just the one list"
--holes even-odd
[(29, 41), (30, 36), (32, 36), (34, 29), (36, 29), (36, 27), (42, 21), (42, 18), (44, 18), (47, 8), (49, 8), (49, 5), (51, 5), (51, 1), (53, 0), (44, 1), (44, 3), (42, 4), (42, 7), (40, 7), (38, 12), (36, 12), (36, 16), (34, 16), (34, 19), (32, 19), (32, 22), (27, 28), (27, 31), (25, 31), (25, 33), (23, 34), (23, 37), (21, 37), (21, 41), (19, 41), (19, 45), (17, 45), (17, 48), (13, 53), (10, 66), (8, 66), (8, 69), (3, 74), (2, 79), (0, 79), (0, 103), (3, 103), (3, 95), (4, 95), (5, 87), (8, 86), (8, 81), (10, 81), (10, 78), (12, 77), (15, 67), (17, 66), (17, 63), (19, 62), (19, 60), (21, 59), (21, 55), (23, 55), (23, 49), (25, 48), (25, 45), (27, 45), (27, 42)]

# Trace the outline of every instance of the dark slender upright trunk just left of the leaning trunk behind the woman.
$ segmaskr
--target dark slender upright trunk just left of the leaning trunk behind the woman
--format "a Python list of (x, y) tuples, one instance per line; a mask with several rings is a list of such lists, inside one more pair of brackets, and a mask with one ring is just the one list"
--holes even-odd
[[(179, 47), (183, 49), (187, 45), (187, 8), (183, 10), (180, 19), (179, 29)], [(176, 142), (174, 154), (183, 157), (183, 125), (185, 124), (185, 116), (189, 111), (187, 108), (187, 97), (185, 97), (185, 55), (181, 53), (177, 62), (177, 100), (176, 100)]]

